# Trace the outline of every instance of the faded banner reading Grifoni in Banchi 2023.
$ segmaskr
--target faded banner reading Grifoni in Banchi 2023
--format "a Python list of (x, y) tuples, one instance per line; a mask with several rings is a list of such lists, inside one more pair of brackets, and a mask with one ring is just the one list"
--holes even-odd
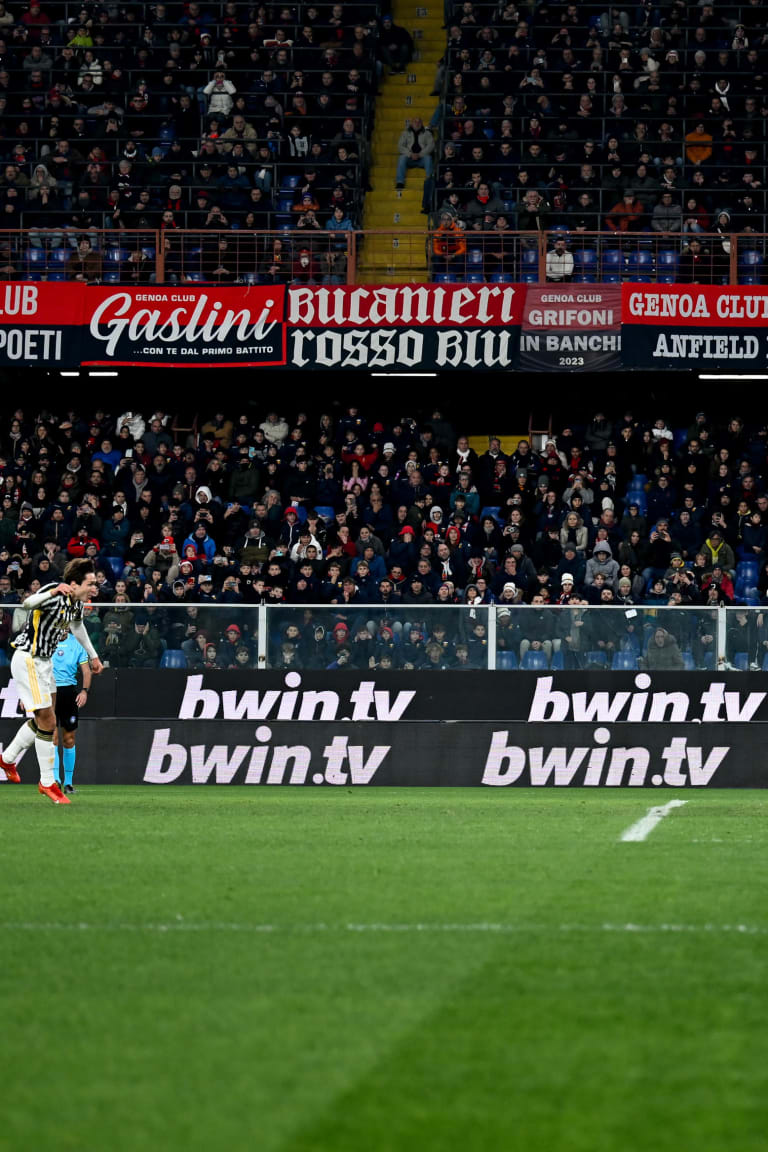
[(519, 366), (533, 372), (607, 372), (622, 366), (621, 285), (529, 288)]

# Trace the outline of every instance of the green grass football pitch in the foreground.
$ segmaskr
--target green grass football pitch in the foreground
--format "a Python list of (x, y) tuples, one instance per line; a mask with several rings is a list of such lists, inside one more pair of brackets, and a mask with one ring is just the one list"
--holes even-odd
[(767, 828), (760, 791), (3, 785), (0, 1150), (765, 1152)]

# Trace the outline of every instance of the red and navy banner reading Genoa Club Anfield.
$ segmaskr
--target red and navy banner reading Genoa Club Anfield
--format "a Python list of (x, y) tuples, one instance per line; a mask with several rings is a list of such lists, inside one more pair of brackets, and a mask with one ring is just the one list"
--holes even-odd
[(768, 291), (699, 285), (623, 285), (625, 367), (765, 371)]

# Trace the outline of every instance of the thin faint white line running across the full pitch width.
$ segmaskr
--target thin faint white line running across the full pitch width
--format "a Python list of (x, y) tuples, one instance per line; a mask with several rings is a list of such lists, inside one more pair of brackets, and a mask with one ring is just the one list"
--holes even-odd
[(593, 933), (630, 933), (630, 934), (718, 934), (730, 933), (732, 935), (768, 935), (768, 925), (765, 924), (503, 924), (494, 922), (478, 922), (467, 924), (455, 923), (372, 923), (372, 924), (259, 924), (238, 923), (233, 920), (184, 920), (177, 918), (168, 922), (104, 922), (93, 920), (7, 920), (0, 923), (0, 935), (3, 932), (70, 932), (70, 933), (99, 933), (99, 932), (136, 932), (158, 933), (168, 932), (213, 932), (213, 933), (252, 933), (254, 935), (333, 935), (333, 934), (546, 934), (546, 935), (578, 935)]

